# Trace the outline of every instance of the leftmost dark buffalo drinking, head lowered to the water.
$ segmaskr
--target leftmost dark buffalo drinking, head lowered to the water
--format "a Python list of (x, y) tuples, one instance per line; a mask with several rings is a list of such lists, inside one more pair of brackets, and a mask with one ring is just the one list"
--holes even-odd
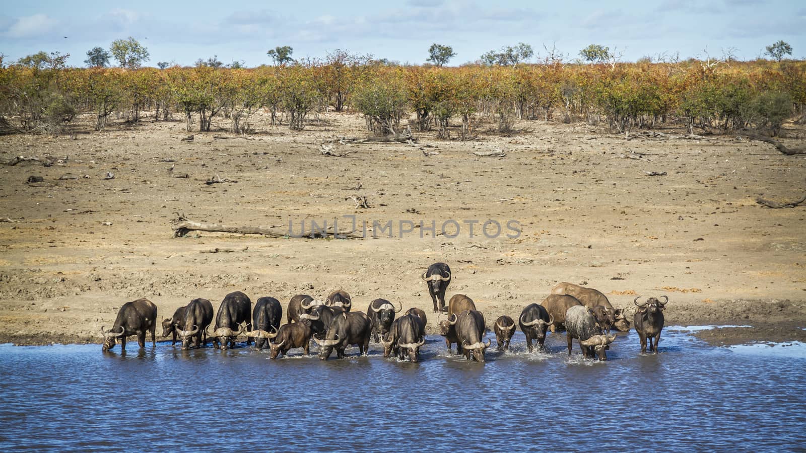
[(114, 319), (114, 325), (110, 330), (101, 327), (104, 336), (103, 351), (109, 351), (114, 347), (115, 341), (120, 339), (120, 350), (126, 351), (126, 337), (137, 335), (137, 343), (140, 347), (146, 347), (146, 331), (151, 330), (152, 346), (156, 347), (156, 305), (148, 299), (137, 299), (126, 302), (120, 307), (118, 317)]

